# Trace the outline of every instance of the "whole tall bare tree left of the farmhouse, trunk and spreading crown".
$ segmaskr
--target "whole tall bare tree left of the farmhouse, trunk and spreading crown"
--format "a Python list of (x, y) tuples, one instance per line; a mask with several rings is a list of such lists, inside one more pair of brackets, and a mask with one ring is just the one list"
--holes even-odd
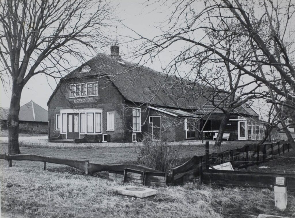
[(106, 45), (113, 18), (104, 0), (0, 1), (0, 77), (10, 78), (12, 88), (8, 153), (20, 153), (19, 103), (26, 83), (40, 73), (61, 78), (71, 57), (85, 60), (87, 51)]

